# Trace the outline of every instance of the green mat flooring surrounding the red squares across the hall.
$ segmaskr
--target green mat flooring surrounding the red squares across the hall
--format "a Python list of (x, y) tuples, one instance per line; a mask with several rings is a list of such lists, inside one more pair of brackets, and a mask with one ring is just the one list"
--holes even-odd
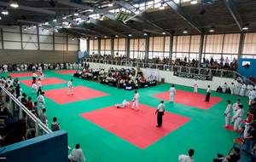
[[(44, 71), (44, 73), (47, 75), (44, 78), (60, 78), (66, 81), (73, 78), (73, 74), (60, 74), (53, 71)], [(1, 75), (4, 77), (8, 76), (6, 73)], [(19, 79), (32, 79), (32, 77)], [(191, 82), (193, 82), (192, 79)], [(44, 85), (43, 81), (42, 84), (44, 87), (43, 91), (67, 88), (67, 83)], [(211, 82), (209, 82), (209, 84), (211, 84)], [(163, 136), (160, 140), (152, 143), (147, 148), (142, 149), (79, 115), (99, 110), (104, 107), (111, 107), (124, 100), (131, 101), (134, 95), (134, 90), (120, 90), (105, 84), (98, 84), (81, 78), (73, 78), (73, 87), (77, 86), (99, 90), (109, 95), (84, 101), (73, 101), (66, 104), (58, 104), (48, 97), (45, 97), (46, 115), (49, 119), (49, 125), (52, 123), (54, 117), (58, 119), (57, 123), (60, 123), (61, 130), (67, 131), (68, 145), (71, 148), (74, 148), (77, 143), (80, 143), (84, 157), (88, 162), (178, 161), (178, 155), (188, 154), (189, 148), (195, 150), (195, 155), (193, 156), (195, 161), (212, 161), (213, 158), (216, 158), (216, 153), (229, 153), (230, 148), (232, 148), (234, 144), (233, 140), (239, 136), (239, 133), (223, 128), (225, 121), (224, 111), (227, 107), (227, 100), (230, 100), (231, 104), (234, 104), (239, 98), (244, 105), (246, 113), (248, 109), (247, 97), (220, 94), (213, 91), (211, 96), (224, 99), (207, 110), (165, 101), (166, 112), (175, 113), (187, 117), (190, 120), (166, 136)], [(23, 90), (22, 92), (26, 93), (27, 97), (32, 96), (32, 101), (37, 100), (37, 95), (32, 94), (31, 87), (22, 83), (20, 84), (20, 87)], [(160, 84), (139, 89), (139, 103), (156, 108), (160, 103), (160, 99), (151, 95), (165, 92), (169, 90), (170, 87), (171, 84)], [(179, 85), (175, 85), (175, 88), (177, 90), (189, 92), (194, 91), (193, 88)], [(76, 92), (74, 91), (74, 93)], [(206, 95), (206, 90), (198, 90), (198, 93)], [(184, 100), (189, 100), (186, 96), (183, 96), (183, 98)], [(165, 116), (163, 118), (165, 118)], [(246, 115), (244, 115), (244, 119), (245, 118)], [(154, 120), (156, 124), (156, 116), (154, 116), (152, 120)], [(153, 126), (155, 127), (155, 125)], [(164, 126), (165, 123), (163, 123), (163, 127)], [(122, 131), (121, 128), (119, 129), (119, 131)]]

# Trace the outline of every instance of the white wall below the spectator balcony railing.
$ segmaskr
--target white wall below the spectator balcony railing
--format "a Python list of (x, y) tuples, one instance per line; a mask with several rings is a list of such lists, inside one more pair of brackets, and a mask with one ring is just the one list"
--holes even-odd
[[(93, 63), (93, 62), (89, 62), (90, 64), (90, 68), (96, 69), (99, 68), (100, 66), (104, 66), (105, 67), (105, 71), (108, 69), (109, 67), (117, 67), (117, 68), (131, 68), (131, 67), (124, 67), (124, 66), (116, 66), (116, 65), (109, 65), (109, 64), (100, 64), (100, 63)], [(136, 68), (136, 67), (134, 67)], [(143, 71), (144, 74), (146, 74), (146, 69), (145, 68), (141, 68), (141, 71)], [(178, 84), (178, 85), (183, 85), (183, 86), (188, 86), (188, 87), (193, 87), (194, 84), (194, 79), (192, 78), (181, 78), (181, 77), (177, 77), (177, 76), (173, 76), (173, 72), (168, 72), (168, 71), (160, 71), (160, 78), (165, 78), (165, 83), (167, 84)], [(160, 80), (159, 80), (160, 81)], [(219, 85), (223, 85), (224, 83), (227, 83), (229, 85), (231, 85), (232, 82), (234, 82), (234, 84), (236, 84), (236, 80), (234, 78), (220, 78), (220, 77), (212, 77), (212, 81), (207, 81), (207, 80), (199, 80), (199, 89), (204, 89), (207, 90), (207, 86), (210, 85), (212, 90), (217, 90)]]

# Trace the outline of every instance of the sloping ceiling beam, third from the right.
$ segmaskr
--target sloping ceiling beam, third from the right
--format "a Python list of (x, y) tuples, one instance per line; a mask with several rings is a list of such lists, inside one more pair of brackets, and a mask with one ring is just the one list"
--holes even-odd
[[(124, 7), (125, 9), (130, 10), (132, 13), (136, 12), (136, 8), (131, 5), (130, 3), (125, 2), (124, 0), (119, 0), (119, 1), (115, 1), (115, 3), (118, 3), (120, 6)], [(146, 20), (148, 23), (150, 23), (152, 26), (155, 26), (157, 28), (159, 28), (160, 30), (163, 31), (163, 28), (160, 27), (160, 24), (156, 23), (156, 22), (152, 22), (153, 19), (145, 12), (141, 12), (140, 14), (138, 14), (137, 16), (143, 18), (143, 20)], [(168, 33), (169, 34), (169, 33)]]

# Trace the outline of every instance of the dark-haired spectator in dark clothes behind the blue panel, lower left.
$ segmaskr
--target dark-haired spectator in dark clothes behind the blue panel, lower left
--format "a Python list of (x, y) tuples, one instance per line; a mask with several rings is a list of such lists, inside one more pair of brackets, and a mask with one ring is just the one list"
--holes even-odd
[(9, 131), (8, 135), (4, 138), (2, 147), (14, 144), (16, 142), (22, 142), (27, 139), (26, 130), (28, 126), (26, 119), (19, 119), (12, 130)]

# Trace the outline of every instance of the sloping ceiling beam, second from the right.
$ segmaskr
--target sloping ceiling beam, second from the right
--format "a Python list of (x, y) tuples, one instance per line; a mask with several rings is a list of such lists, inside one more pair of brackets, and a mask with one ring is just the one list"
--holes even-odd
[(192, 20), (189, 15), (183, 11), (183, 9), (177, 5), (177, 3), (174, 3), (173, 1), (163, 1), (166, 3), (173, 11), (175, 11), (180, 17), (183, 18), (183, 20), (187, 21), (190, 26), (193, 26), (197, 32), (201, 33), (201, 30), (197, 27), (194, 20)]

